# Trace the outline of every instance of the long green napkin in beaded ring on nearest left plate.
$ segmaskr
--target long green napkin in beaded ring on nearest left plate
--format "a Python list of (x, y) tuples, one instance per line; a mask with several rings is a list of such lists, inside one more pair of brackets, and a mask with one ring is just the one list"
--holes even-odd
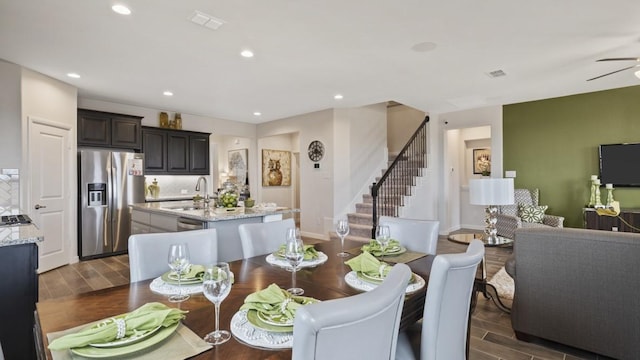
[[(158, 326), (168, 327), (185, 317), (187, 311), (170, 308), (158, 302), (147, 303), (136, 310), (115, 316), (123, 317), (126, 324), (125, 337), (146, 332)], [(51, 350), (64, 350), (84, 347), (94, 343), (107, 343), (116, 339), (118, 326), (115, 321), (109, 321), (103, 326), (92, 325), (77, 333), (68, 334), (53, 340), (49, 344)]]

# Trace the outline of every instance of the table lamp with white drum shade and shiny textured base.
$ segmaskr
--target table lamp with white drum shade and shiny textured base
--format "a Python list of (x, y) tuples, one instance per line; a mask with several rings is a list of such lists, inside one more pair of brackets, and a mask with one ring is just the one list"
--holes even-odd
[(495, 244), (498, 241), (496, 230), (496, 214), (498, 205), (511, 205), (514, 203), (513, 179), (471, 179), (469, 180), (469, 202), (472, 205), (485, 205), (487, 216), (485, 241)]

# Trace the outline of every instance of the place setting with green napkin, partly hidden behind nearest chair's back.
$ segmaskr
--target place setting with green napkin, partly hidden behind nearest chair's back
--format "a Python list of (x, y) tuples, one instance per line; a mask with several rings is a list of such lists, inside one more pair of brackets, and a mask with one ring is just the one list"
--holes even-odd
[[(368, 251), (363, 251), (362, 254), (345, 261), (345, 264), (352, 270), (344, 276), (345, 282), (360, 291), (375, 289), (384, 281), (392, 268), (392, 265), (376, 259)], [(420, 275), (413, 273), (407, 285), (406, 293), (414, 293), (425, 285), (426, 281)]]

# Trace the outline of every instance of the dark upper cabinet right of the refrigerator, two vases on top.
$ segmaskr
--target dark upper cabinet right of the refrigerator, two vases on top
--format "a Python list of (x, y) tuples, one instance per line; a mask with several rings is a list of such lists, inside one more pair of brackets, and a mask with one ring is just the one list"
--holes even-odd
[(142, 127), (145, 174), (209, 175), (209, 135)]

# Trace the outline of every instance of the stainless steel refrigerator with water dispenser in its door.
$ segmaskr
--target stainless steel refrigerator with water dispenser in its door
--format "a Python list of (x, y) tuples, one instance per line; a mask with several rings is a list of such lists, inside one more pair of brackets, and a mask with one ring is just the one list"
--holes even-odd
[(127, 251), (129, 204), (144, 202), (144, 154), (78, 151), (78, 253), (91, 259)]

